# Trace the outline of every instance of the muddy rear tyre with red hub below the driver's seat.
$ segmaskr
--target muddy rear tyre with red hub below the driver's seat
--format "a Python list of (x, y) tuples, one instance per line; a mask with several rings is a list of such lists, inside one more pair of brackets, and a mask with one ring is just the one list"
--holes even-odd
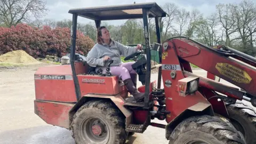
[(72, 137), (77, 144), (124, 143), (125, 118), (111, 102), (93, 100), (79, 108), (71, 124)]

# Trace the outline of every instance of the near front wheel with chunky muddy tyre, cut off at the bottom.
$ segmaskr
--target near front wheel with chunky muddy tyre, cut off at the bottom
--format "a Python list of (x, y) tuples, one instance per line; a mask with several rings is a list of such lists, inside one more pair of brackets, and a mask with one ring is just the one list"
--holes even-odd
[(245, 143), (229, 122), (217, 116), (194, 116), (181, 122), (170, 135), (169, 144), (241, 144)]

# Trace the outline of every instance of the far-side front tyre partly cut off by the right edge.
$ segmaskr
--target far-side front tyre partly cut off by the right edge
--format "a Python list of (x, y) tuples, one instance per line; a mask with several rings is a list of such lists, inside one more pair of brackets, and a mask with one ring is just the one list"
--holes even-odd
[(226, 105), (230, 122), (241, 131), (247, 144), (256, 143), (256, 110), (245, 102), (237, 101), (234, 105)]

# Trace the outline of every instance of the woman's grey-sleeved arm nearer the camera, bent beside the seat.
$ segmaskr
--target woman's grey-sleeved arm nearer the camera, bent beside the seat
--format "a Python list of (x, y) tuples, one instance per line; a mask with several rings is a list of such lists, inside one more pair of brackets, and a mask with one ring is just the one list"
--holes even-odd
[(98, 58), (98, 51), (93, 47), (87, 54), (86, 62), (91, 67), (104, 66), (104, 57)]

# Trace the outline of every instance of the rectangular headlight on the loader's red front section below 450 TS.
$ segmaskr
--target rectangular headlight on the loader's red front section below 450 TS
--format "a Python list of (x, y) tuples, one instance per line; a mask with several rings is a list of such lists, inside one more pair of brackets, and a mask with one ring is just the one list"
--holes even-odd
[(199, 77), (189, 76), (178, 81), (179, 95), (185, 97), (198, 90)]

